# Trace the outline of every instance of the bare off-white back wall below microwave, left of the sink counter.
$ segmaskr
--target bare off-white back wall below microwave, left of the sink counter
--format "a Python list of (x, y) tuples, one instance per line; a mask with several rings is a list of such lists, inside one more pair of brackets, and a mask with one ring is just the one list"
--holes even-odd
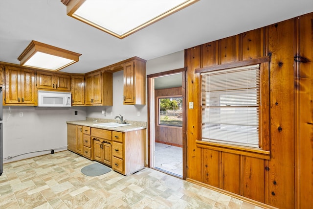
[[(74, 115), (74, 111), (78, 111), (78, 115)], [(23, 113), (22, 117), (20, 117), (20, 113)], [(51, 149), (54, 149), (55, 152), (66, 150), (66, 121), (83, 120), (86, 118), (86, 115), (86, 107), (45, 108), (4, 106), (3, 158), (9, 156), (17, 157), (9, 160), (4, 159), (3, 163), (47, 154), (50, 153)]]

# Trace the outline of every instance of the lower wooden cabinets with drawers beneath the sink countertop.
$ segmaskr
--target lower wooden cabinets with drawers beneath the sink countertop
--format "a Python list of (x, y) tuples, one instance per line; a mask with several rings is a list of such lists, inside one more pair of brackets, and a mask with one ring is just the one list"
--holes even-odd
[(67, 124), (68, 150), (129, 175), (144, 167), (146, 131), (110, 131)]

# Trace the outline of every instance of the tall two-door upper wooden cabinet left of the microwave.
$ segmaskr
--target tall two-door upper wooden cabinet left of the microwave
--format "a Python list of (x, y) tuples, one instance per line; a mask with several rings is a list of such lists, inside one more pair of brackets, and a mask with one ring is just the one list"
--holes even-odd
[(5, 67), (4, 105), (36, 105), (35, 71)]

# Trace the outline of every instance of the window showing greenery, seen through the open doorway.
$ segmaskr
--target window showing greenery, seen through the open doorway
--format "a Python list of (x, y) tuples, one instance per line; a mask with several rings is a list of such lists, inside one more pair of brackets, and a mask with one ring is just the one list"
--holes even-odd
[(182, 97), (157, 97), (158, 125), (182, 127)]

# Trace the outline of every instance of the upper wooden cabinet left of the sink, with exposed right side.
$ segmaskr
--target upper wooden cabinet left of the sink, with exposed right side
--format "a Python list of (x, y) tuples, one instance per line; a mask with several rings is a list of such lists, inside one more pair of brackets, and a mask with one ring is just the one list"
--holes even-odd
[(96, 71), (86, 74), (86, 105), (112, 106), (112, 73)]

